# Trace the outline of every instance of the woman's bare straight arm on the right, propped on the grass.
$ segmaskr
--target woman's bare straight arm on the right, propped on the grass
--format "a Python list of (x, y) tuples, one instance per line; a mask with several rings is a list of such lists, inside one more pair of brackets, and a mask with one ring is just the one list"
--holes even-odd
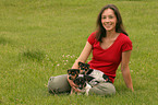
[(130, 73), (130, 68), (129, 68), (130, 57), (131, 57), (131, 50), (122, 52), (121, 71), (122, 71), (122, 75), (123, 75), (126, 86), (131, 89), (132, 91), (134, 91), (132, 79), (131, 79), (131, 73)]

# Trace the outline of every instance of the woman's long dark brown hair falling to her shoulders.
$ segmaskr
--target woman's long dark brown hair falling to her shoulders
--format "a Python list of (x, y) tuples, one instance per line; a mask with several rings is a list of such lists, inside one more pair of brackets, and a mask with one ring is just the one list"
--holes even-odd
[(100, 11), (100, 13), (98, 14), (98, 19), (97, 19), (97, 31), (96, 31), (96, 38), (98, 42), (102, 43), (102, 37), (107, 36), (106, 33), (106, 28), (102, 26), (101, 23), (101, 14), (106, 9), (111, 9), (113, 10), (116, 16), (117, 16), (117, 24), (116, 24), (116, 32), (117, 33), (123, 33), (127, 36), (127, 33), (125, 32), (124, 27), (123, 27), (123, 22), (122, 22), (122, 18), (121, 14), (119, 12), (119, 9), (114, 5), (114, 4), (108, 4), (106, 7), (104, 7)]

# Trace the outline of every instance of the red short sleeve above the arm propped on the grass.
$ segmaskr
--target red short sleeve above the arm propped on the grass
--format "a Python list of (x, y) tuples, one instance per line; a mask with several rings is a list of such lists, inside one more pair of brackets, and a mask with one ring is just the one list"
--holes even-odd
[(132, 42), (130, 40), (130, 38), (125, 39), (124, 44), (122, 45), (122, 51), (132, 49), (133, 49)]

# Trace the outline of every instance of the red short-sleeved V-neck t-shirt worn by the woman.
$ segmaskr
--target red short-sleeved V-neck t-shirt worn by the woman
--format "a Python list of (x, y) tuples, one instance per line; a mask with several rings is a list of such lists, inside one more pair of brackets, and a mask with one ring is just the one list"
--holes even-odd
[(121, 62), (122, 52), (132, 50), (130, 38), (120, 33), (114, 43), (107, 49), (100, 47), (100, 42), (96, 38), (95, 32), (88, 37), (88, 43), (93, 46), (93, 58), (88, 62), (92, 69), (100, 70), (114, 82), (116, 71)]

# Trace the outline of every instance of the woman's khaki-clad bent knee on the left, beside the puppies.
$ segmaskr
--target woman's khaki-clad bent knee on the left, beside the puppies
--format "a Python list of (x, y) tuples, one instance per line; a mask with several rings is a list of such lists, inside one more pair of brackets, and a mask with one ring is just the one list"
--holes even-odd
[(66, 74), (50, 77), (48, 81), (48, 91), (53, 94), (69, 92), (71, 86), (66, 80)]

